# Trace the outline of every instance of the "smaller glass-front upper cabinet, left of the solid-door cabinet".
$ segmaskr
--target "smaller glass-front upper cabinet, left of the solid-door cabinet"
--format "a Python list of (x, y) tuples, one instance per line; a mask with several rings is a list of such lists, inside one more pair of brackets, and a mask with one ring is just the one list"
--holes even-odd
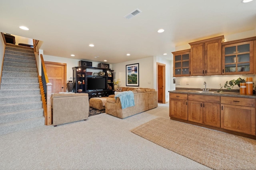
[(190, 60), (190, 49), (175, 51), (173, 54), (173, 76), (190, 76), (189, 60)]

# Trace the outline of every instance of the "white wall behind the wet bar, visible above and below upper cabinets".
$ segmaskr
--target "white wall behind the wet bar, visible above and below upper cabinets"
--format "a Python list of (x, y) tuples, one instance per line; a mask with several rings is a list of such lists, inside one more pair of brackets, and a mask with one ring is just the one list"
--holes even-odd
[[(226, 41), (232, 41), (236, 39), (243, 39), (247, 37), (256, 36), (256, 29), (251, 31), (246, 31), (242, 33), (224, 35)], [(189, 49), (189, 45), (183, 45), (175, 48), (175, 51), (180, 51), (184, 49)], [(204, 81), (207, 84), (207, 88), (220, 89), (220, 84), (224, 86), (226, 81), (237, 79), (238, 77), (246, 78), (253, 77), (254, 84), (256, 84), (256, 77), (254, 75), (243, 75), (243, 76), (193, 76), (193, 77), (176, 77), (176, 87), (177, 88), (204, 88)], [(189, 85), (186, 85), (188, 81)], [(178, 85), (180, 82), (180, 85)], [(238, 89), (238, 86), (236, 86)], [(234, 88), (234, 89), (236, 89)]]

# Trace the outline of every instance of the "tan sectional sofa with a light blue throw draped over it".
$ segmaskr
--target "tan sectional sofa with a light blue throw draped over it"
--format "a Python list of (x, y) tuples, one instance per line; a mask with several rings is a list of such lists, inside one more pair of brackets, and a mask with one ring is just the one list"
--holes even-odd
[(158, 106), (157, 91), (150, 88), (127, 88), (121, 87), (123, 91), (131, 90), (134, 93), (135, 106), (122, 109), (119, 98), (114, 95), (108, 96), (106, 113), (124, 119), (125, 117), (153, 109)]

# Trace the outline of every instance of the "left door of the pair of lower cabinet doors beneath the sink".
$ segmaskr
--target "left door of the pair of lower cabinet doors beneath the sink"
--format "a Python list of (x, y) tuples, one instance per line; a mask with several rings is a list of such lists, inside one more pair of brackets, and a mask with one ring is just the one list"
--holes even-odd
[(188, 101), (188, 120), (203, 123), (203, 103), (198, 101)]

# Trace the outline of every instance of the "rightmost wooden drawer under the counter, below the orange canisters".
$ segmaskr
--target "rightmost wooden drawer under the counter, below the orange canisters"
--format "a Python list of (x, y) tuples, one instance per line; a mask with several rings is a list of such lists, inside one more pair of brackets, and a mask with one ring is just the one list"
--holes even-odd
[(248, 98), (220, 97), (220, 102), (222, 104), (255, 107), (255, 100)]

